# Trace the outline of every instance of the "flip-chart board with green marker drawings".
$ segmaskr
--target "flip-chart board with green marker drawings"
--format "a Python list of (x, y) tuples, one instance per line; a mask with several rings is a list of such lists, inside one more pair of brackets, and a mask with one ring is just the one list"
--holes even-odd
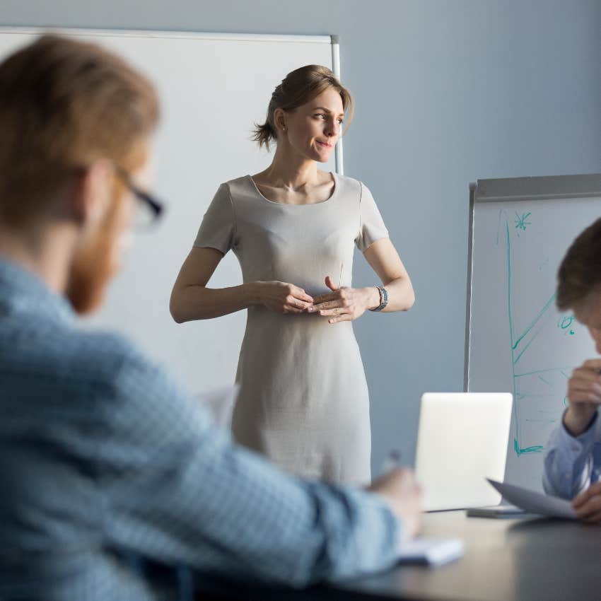
[(513, 394), (506, 481), (542, 490), (571, 370), (597, 356), (555, 288), (569, 245), (601, 215), (601, 174), (479, 180), (470, 198), (465, 388)]

